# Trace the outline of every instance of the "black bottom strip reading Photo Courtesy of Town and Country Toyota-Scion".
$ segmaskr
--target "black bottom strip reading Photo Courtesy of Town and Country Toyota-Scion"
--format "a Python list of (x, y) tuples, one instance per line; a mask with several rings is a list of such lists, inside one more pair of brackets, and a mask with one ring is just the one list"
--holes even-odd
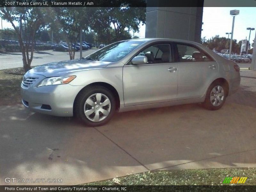
[(256, 191), (256, 186), (250, 185), (214, 185), (214, 186), (153, 186), (153, 185), (77, 185), (77, 186), (37, 186), (37, 185), (1, 185), (1, 192), (250, 192)]

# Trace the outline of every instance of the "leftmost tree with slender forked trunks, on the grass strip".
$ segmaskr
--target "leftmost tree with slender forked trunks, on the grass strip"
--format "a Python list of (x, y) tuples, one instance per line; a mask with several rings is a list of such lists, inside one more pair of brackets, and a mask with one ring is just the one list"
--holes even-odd
[[(46, 9), (46, 7), (15, 7), (15, 9), (12, 7), (0, 8), (0, 16), (12, 24), (17, 35), (25, 71), (28, 71), (31, 68), (30, 65), (33, 60), (35, 35), (39, 28), (44, 25), (45, 18), (47, 17)], [(20, 22), (20, 28), (14, 25), (15, 21)], [(24, 36), (22, 36), (22, 28), (24, 28)]]

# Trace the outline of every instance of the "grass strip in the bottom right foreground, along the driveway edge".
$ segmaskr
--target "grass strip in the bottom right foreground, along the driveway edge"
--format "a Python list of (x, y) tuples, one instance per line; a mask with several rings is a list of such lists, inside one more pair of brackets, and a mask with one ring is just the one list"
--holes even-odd
[(226, 177), (248, 177), (242, 185), (256, 185), (256, 168), (219, 168), (154, 171), (85, 185), (241, 185), (223, 184)]

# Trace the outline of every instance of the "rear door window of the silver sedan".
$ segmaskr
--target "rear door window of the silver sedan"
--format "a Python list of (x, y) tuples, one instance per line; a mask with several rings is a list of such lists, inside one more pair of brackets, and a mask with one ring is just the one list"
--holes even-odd
[(213, 61), (212, 58), (204, 54), (204, 52), (200, 51), (196, 47), (185, 44), (177, 44), (177, 49), (179, 62)]

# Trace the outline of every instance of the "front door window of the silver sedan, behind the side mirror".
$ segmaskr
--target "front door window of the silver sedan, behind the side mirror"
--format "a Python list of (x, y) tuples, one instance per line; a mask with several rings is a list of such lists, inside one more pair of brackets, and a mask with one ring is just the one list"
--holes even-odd
[(142, 50), (136, 56), (146, 56), (148, 63), (168, 63), (171, 62), (170, 44), (156, 44)]

